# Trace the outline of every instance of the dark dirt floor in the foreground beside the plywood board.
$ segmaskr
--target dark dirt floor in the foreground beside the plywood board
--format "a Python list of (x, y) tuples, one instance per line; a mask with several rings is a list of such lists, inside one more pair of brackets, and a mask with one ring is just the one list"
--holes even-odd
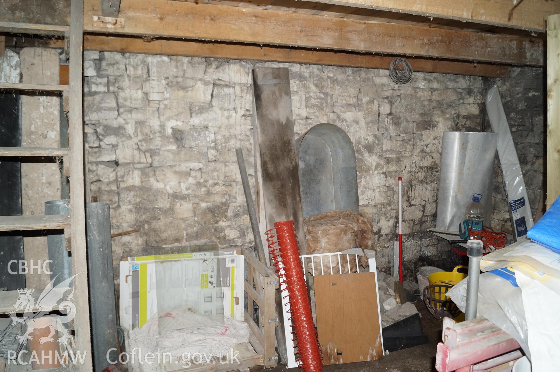
[[(422, 316), (422, 328), (424, 335), (428, 336), (428, 340), (430, 340), (428, 343), (390, 352), (381, 360), (325, 366), (324, 371), (435, 372), (436, 346), (441, 341), (441, 322), (432, 316), (422, 300), (418, 300), (415, 305)], [(291, 372), (297, 370), (287, 369), (285, 365), (279, 364), (276, 368), (267, 369), (267, 372), (269, 371)]]

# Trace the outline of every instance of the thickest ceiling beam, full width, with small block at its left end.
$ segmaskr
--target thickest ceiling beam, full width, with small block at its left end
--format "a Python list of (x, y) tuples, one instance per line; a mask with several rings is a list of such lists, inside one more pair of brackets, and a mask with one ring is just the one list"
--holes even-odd
[(524, 37), (166, 0), (122, 0), (124, 27), (106, 27), (99, 7), (85, 0), (85, 32), (543, 64), (543, 41)]

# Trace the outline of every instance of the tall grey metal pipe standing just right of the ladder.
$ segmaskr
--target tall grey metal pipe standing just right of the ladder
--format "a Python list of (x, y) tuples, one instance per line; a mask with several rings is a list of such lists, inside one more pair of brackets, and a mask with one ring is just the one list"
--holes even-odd
[[(115, 284), (109, 204), (86, 204), (87, 276), (94, 371), (105, 370), (117, 360)], [(108, 353), (109, 349), (113, 349)], [(109, 358), (108, 358), (109, 357)]]

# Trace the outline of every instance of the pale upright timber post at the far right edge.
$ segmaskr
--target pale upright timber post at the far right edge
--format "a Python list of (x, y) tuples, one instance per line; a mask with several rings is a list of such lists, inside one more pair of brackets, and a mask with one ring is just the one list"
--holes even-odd
[(560, 195), (560, 14), (547, 23), (547, 209)]

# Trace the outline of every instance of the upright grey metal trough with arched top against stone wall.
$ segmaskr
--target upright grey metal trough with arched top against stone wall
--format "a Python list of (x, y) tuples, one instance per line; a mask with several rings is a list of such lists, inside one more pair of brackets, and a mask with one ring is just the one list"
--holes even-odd
[(296, 140), (304, 217), (330, 210), (360, 211), (356, 155), (348, 134), (318, 124)]

